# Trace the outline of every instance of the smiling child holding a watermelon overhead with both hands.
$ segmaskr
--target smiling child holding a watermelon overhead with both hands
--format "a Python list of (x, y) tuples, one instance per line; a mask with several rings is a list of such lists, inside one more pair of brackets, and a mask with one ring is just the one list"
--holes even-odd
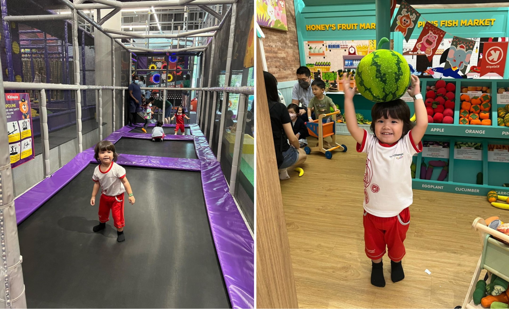
[(410, 164), (414, 154), (422, 151), (421, 138), (428, 127), (428, 114), (420, 94), (419, 78), (411, 76), (409, 94), (414, 98), (416, 123), (410, 121), (410, 108), (402, 99), (376, 103), (371, 109), (371, 131), (359, 128), (353, 97), (355, 88), (343, 76), (345, 119), (357, 141), (357, 151), (367, 153), (364, 174), (364, 251), (372, 260), (371, 284), (385, 286), (382, 257), (385, 247), (391, 266), (391, 280), (405, 278), (401, 260), (413, 202)]

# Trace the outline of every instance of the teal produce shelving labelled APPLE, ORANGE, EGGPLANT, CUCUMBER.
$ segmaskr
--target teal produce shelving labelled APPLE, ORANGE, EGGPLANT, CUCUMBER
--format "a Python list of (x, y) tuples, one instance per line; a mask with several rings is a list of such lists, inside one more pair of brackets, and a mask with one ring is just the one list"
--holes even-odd
[[(421, 92), (426, 95), (426, 86), (435, 85), (438, 79), (421, 78)], [(431, 180), (420, 179), (420, 167), (422, 162), (422, 153), (414, 157), (417, 165), (415, 179), (412, 182), (414, 189), (434, 190), (449, 193), (462, 193), (472, 195), (486, 195), (490, 190), (496, 190), (499, 195), (509, 195), (509, 187), (503, 187), (502, 184), (509, 183), (509, 163), (507, 162), (489, 162), (488, 145), (509, 145), (509, 127), (500, 127), (497, 124), (497, 108), (504, 107), (505, 103), (498, 104), (497, 88), (509, 87), (507, 79), (444, 79), (446, 82), (456, 84), (455, 92), (455, 110), (453, 124), (430, 123), (426, 135), (422, 141), (438, 141), (449, 143), (449, 158), (438, 160), (448, 160), (448, 175), (444, 181), (436, 180), (440, 174), (441, 168), (435, 168)], [(460, 95), (463, 87), (489, 87), (491, 93), (491, 126), (485, 125), (460, 125)], [(327, 93), (335, 104), (340, 106), (343, 111), (343, 94)], [(408, 102), (413, 115), (413, 102)], [(361, 95), (354, 97), (356, 113), (364, 115), (365, 119), (371, 120), (371, 107), (373, 102), (365, 99)], [(369, 125), (364, 125), (369, 130)], [(345, 124), (336, 124), (338, 134), (348, 134)], [(456, 142), (462, 143), (480, 143), (482, 144), (482, 160), (467, 160), (454, 158), (454, 145)], [(424, 158), (427, 163), (431, 158)], [(483, 173), (483, 183), (477, 184), (477, 174)]]

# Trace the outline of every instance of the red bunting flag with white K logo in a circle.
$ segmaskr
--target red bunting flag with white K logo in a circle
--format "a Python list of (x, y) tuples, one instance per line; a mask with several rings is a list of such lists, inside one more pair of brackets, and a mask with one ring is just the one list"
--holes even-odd
[(485, 42), (483, 60), (479, 65), (480, 76), (495, 73), (504, 76), (508, 42)]

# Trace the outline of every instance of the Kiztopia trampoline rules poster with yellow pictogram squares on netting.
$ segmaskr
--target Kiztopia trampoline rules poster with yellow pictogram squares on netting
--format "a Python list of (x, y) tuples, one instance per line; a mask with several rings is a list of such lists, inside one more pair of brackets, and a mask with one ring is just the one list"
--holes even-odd
[(35, 158), (29, 94), (6, 93), (5, 109), (11, 168), (14, 168)]

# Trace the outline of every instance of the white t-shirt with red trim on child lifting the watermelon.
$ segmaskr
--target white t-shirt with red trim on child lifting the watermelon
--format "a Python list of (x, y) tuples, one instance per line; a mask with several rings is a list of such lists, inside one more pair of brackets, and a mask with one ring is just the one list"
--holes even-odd
[(364, 210), (377, 217), (394, 217), (413, 202), (410, 164), (422, 151), (415, 145), (412, 131), (392, 145), (383, 144), (364, 130), (357, 152), (367, 153), (364, 172)]

